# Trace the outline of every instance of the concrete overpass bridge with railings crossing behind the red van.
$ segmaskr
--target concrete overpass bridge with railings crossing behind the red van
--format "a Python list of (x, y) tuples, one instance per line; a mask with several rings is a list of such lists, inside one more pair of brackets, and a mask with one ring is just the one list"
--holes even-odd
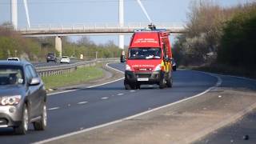
[[(155, 23), (158, 29), (166, 29), (173, 34), (185, 33), (182, 23)], [(118, 23), (94, 23), (76, 25), (38, 25), (18, 28), (18, 32), (25, 37), (63, 37), (78, 35), (118, 35), (132, 34), (134, 30), (145, 29), (148, 23), (128, 23), (119, 26)]]

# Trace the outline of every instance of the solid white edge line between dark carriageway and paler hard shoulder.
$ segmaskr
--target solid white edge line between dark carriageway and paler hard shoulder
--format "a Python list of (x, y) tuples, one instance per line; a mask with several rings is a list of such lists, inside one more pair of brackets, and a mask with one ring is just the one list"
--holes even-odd
[[(207, 73), (206, 73), (207, 74)], [(185, 99), (182, 99), (178, 102), (173, 102), (173, 103), (170, 103), (170, 104), (167, 104), (165, 106), (160, 106), (160, 107), (156, 107), (154, 109), (151, 109), (151, 110), (147, 110), (147, 111), (144, 111), (142, 113), (139, 113), (139, 114), (134, 114), (130, 117), (127, 117), (127, 118), (122, 118), (122, 119), (118, 119), (116, 121), (113, 121), (113, 122), (108, 122), (108, 123), (105, 123), (105, 124), (102, 124), (102, 125), (98, 125), (98, 126), (94, 126), (94, 127), (90, 127), (90, 128), (87, 128), (87, 129), (84, 129), (84, 130), (78, 130), (78, 131), (75, 131), (75, 132), (72, 132), (72, 133), (69, 133), (69, 134), (63, 134), (63, 135), (60, 135), (60, 136), (57, 136), (57, 137), (54, 137), (54, 138), (49, 138), (49, 139), (46, 139), (46, 140), (42, 140), (42, 141), (39, 141), (39, 142), (34, 142), (36, 144), (42, 144), (42, 143), (46, 143), (46, 142), (51, 142), (51, 141), (54, 141), (54, 140), (57, 140), (57, 139), (61, 139), (61, 138), (66, 138), (66, 137), (70, 137), (70, 136), (73, 136), (75, 134), (81, 134), (81, 133), (84, 133), (84, 132), (87, 132), (87, 131), (90, 131), (90, 130), (95, 130), (95, 129), (98, 129), (98, 128), (102, 128), (102, 127), (105, 127), (105, 126), (110, 126), (110, 125), (114, 125), (116, 123), (119, 123), (119, 122), (123, 122), (123, 121), (126, 121), (126, 120), (129, 120), (129, 119), (133, 119), (133, 118), (136, 118), (136, 117), (139, 117), (141, 115), (144, 115), (144, 114), (149, 114), (151, 112), (154, 112), (156, 110), (160, 110), (160, 109), (163, 109), (163, 108), (166, 108), (168, 106), (173, 106), (173, 105), (176, 105), (180, 102), (186, 102), (190, 99), (193, 99), (193, 98), (197, 98), (197, 97), (200, 97), (202, 96), (203, 94), (206, 94), (208, 93), (210, 90), (213, 90), (215, 89), (216, 87), (220, 86), (222, 84), (222, 79), (218, 77), (218, 75), (214, 75), (214, 74), (210, 74), (211, 76), (215, 77), (215, 78), (218, 78), (218, 82), (215, 84), (215, 86), (212, 86), (210, 88), (208, 88), (207, 90), (203, 91), (202, 93), (200, 94), (196, 94), (190, 98), (185, 98)]]

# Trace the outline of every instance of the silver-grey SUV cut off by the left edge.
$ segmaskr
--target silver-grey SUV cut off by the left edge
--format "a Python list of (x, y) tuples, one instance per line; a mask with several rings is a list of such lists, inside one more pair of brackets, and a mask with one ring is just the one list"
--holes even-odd
[(45, 130), (46, 119), (46, 90), (34, 66), (0, 61), (0, 127), (26, 134), (30, 122), (35, 130)]

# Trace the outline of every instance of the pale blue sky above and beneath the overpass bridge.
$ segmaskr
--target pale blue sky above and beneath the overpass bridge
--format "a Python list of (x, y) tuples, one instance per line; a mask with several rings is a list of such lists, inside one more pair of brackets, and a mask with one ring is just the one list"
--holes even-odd
[[(18, 27), (26, 26), (23, 0), (18, 1)], [(75, 25), (86, 23), (118, 23), (118, 0), (27, 0), (31, 26), (38, 24)], [(141, 0), (153, 22), (186, 23), (190, 3), (195, 0)], [(256, 0), (206, 0), (220, 6), (235, 6)], [(125, 23), (149, 22), (137, 0), (124, 0)], [(0, 24), (10, 22), (10, 0), (0, 1)], [(73, 41), (81, 37), (70, 37)], [(118, 44), (118, 36), (90, 36), (96, 43), (111, 40)], [(128, 45), (130, 36), (126, 36)], [(173, 39), (172, 39), (173, 41)]]

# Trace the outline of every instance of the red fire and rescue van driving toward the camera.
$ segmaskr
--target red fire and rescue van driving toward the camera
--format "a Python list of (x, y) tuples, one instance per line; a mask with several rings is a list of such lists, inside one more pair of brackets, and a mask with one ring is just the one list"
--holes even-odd
[(143, 84), (172, 87), (172, 52), (166, 30), (135, 31), (126, 57), (126, 90)]

